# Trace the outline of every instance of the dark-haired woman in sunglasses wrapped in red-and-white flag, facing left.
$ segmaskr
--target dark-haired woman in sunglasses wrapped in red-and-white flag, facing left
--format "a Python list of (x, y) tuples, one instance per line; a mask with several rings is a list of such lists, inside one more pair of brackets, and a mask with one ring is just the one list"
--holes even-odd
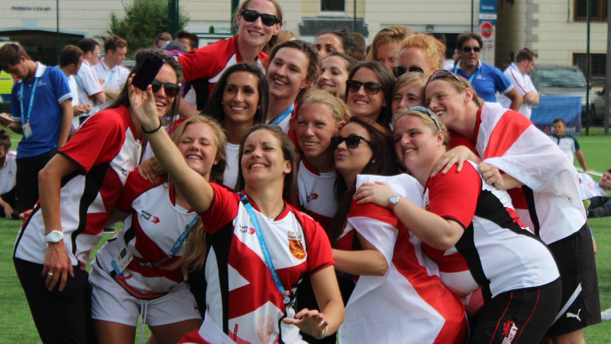
[[(353, 201), (358, 185), (384, 181), (422, 203), (417, 181), (407, 174), (397, 175), (390, 131), (353, 117), (332, 139), (332, 146), (340, 173), (335, 188), (339, 204), (329, 228), (335, 269), (358, 276), (339, 342), (464, 344), (463, 304), (428, 271), (421, 259), (420, 240), (386, 204), (383, 208)], [(350, 238), (355, 236), (353, 244)]]

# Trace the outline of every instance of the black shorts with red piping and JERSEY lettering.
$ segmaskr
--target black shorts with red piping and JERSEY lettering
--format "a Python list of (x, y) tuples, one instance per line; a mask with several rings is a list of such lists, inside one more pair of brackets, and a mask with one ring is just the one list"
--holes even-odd
[(486, 302), (475, 317), (469, 343), (539, 343), (560, 305), (560, 279), (538, 288), (510, 290)]

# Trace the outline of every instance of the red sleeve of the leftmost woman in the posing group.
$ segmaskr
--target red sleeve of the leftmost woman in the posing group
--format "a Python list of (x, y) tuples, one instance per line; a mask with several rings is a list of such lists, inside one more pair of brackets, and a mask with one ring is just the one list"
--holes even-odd
[(111, 162), (119, 154), (125, 130), (128, 130), (120, 111), (122, 109), (108, 109), (93, 115), (76, 130), (60, 149), (60, 154), (79, 165), (85, 173), (93, 166)]

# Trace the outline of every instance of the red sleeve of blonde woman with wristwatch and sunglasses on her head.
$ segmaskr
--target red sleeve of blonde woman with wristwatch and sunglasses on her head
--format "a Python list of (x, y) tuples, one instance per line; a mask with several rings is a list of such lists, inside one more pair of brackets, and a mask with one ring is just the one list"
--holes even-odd
[(467, 228), (477, 206), (481, 192), (480, 174), (470, 163), (456, 172), (458, 165), (452, 166), (446, 174), (437, 174), (428, 182), (429, 211), (444, 219), (456, 220)]

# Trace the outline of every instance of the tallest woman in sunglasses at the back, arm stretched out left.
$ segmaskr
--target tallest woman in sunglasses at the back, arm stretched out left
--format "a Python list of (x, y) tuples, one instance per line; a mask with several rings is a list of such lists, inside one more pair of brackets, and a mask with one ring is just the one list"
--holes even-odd
[[(240, 28), (235, 37), (190, 51), (178, 57), (188, 81), (185, 94), (189, 103), (181, 103), (180, 114), (188, 118), (203, 110), (213, 92), (214, 84), (230, 65), (240, 62), (257, 64), (262, 70), (268, 55), (263, 48), (282, 28), (282, 9), (276, 0), (246, 0), (235, 13)], [(192, 97), (190, 92), (195, 92)]]

